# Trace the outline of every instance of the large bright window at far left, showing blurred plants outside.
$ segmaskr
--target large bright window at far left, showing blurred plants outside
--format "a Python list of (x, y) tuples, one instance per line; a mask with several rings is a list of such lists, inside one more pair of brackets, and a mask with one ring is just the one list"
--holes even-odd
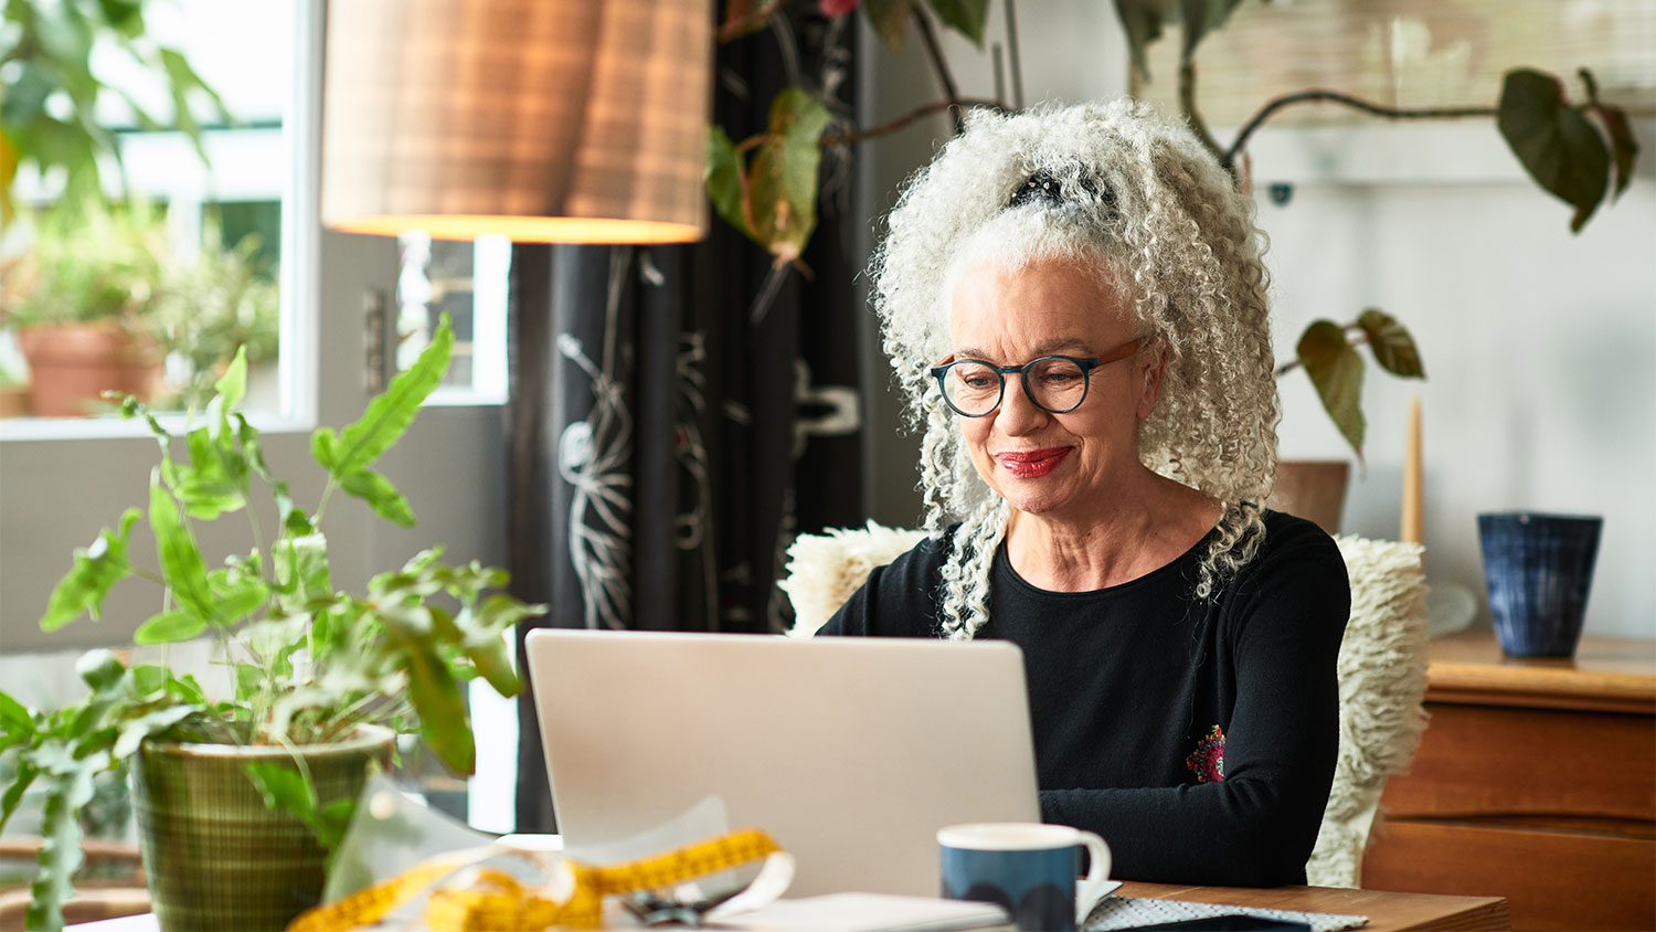
[[(248, 348), (252, 364), (248, 411), (296, 414), (298, 394), (288, 391), (296, 379), (282, 374), (296, 346), (285, 346), (282, 334), (293, 329), (285, 323), (295, 313), (286, 253), (298, 230), (285, 223), (283, 204), (295, 184), (290, 114), (303, 84), (295, 35), (316, 15), (311, 7), (258, 0), (144, 7), (141, 41), (177, 50), (230, 116), (222, 119), (204, 93), (189, 98), (202, 121), (200, 151), (184, 132), (166, 129), (176, 108), (156, 70), (113, 41), (93, 46), (88, 66), (119, 89), (103, 93), (94, 108), (121, 152), (119, 162), (99, 161), (103, 187), (139, 207), (94, 210), (96, 222), (68, 219), (51, 210), (73, 190), (63, 169), (20, 172), (20, 222), (0, 240), (10, 311), (0, 315), (0, 414), (33, 416), (28, 420), (108, 414), (96, 399), (104, 387), (144, 394), (157, 411), (182, 411), (197, 404), (237, 346)], [(134, 108), (164, 127), (146, 124)], [(53, 91), (43, 111), (65, 119), (73, 106)], [(88, 248), (93, 237), (99, 248)], [(83, 286), (93, 276), (104, 281), (96, 295)], [(60, 376), (70, 369), (40, 346), (70, 319), (101, 321), (93, 326), (119, 333), (116, 353), (129, 372), (113, 384), (111, 376), (65, 382)], [(78, 434), (98, 435), (99, 427), (0, 417), (0, 439)]]

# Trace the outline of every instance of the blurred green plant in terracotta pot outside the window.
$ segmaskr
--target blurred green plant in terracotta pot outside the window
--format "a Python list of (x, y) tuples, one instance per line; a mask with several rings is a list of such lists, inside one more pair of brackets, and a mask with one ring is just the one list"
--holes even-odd
[(166, 230), (142, 205), (48, 220), (33, 250), (5, 270), (8, 323), (28, 363), (38, 417), (91, 414), (104, 391), (147, 401), (162, 348), (146, 316)]

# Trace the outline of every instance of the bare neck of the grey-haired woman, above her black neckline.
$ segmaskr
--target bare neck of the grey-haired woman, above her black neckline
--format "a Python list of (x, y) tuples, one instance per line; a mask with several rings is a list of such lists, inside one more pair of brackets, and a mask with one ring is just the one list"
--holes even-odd
[(1086, 515), (1012, 512), (1007, 558), (1032, 586), (1088, 593), (1146, 576), (1191, 550), (1219, 521), (1219, 503), (1139, 467)]

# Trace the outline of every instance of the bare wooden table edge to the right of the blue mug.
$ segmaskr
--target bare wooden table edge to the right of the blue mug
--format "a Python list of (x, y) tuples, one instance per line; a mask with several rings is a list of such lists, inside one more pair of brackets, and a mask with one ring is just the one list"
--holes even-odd
[(1184, 884), (1141, 884), (1138, 881), (1121, 884), (1116, 896), (1366, 915), (1368, 925), (1361, 932), (1393, 932), (1398, 929), (1487, 932), (1512, 927), (1507, 917), (1507, 901), (1500, 897), (1398, 894), (1336, 887), (1191, 887)]

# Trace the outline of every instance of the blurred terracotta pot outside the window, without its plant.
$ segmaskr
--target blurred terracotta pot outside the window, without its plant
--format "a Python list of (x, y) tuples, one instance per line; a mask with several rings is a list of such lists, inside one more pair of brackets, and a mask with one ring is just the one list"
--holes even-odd
[(106, 391), (149, 401), (161, 387), (161, 343), (113, 321), (26, 326), (18, 348), (36, 417), (86, 417)]

